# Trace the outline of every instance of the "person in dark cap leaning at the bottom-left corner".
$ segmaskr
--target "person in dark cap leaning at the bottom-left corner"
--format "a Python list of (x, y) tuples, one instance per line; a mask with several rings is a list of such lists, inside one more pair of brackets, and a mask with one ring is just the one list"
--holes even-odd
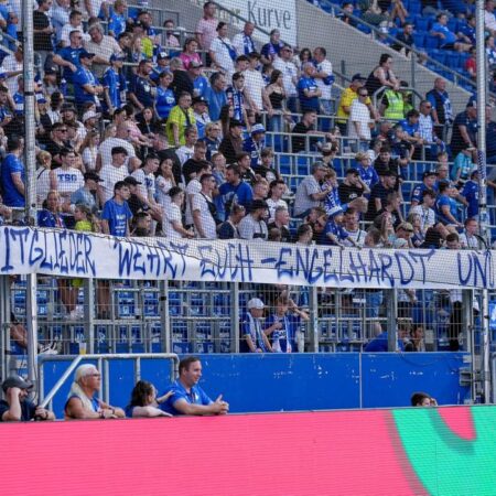
[(4, 400), (0, 400), (0, 421), (19, 422), (30, 420), (55, 420), (55, 414), (37, 407), (28, 399), (33, 384), (20, 376), (10, 376), (2, 382)]

